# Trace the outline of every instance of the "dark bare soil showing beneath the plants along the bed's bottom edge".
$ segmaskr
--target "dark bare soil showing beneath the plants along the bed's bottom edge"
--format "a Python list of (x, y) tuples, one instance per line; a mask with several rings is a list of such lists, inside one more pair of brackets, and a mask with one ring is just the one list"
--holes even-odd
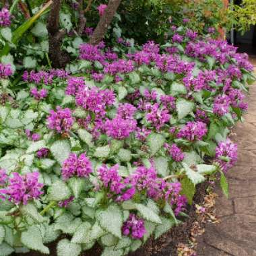
[[(169, 232), (163, 234), (156, 241), (149, 239), (143, 247), (139, 248), (134, 253), (130, 253), (129, 256), (176, 256), (177, 245), (179, 243), (187, 243), (189, 239), (191, 227), (197, 218), (195, 214), (195, 204), (203, 202), (206, 188), (207, 183), (197, 185), (197, 192), (194, 197), (193, 205), (189, 205), (187, 209), (187, 215), (189, 218), (185, 218), (183, 224), (172, 228)], [(59, 240), (65, 237), (66, 236), (61, 236)], [(47, 245), (51, 251), (51, 256), (57, 256), (56, 246), (57, 241)], [(81, 256), (100, 256), (101, 253), (102, 249), (100, 246), (95, 245), (92, 249), (82, 253)], [(21, 254), (13, 253), (11, 256), (21, 256)], [(43, 254), (36, 251), (31, 251), (30, 253), (22, 253), (22, 256), (43, 256)]]

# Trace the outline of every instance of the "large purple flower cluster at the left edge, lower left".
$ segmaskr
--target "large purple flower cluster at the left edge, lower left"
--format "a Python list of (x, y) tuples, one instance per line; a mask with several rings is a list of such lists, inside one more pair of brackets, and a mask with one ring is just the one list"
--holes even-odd
[(39, 172), (31, 172), (20, 175), (13, 172), (13, 177), (5, 189), (0, 189), (0, 193), (5, 195), (9, 201), (26, 205), (31, 199), (38, 199), (42, 195), (42, 183), (38, 183)]

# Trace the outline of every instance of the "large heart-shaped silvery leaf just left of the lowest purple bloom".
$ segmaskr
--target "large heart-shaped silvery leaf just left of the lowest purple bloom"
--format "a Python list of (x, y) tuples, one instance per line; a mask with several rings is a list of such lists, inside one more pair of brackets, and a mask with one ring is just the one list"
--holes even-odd
[(96, 213), (96, 219), (100, 226), (113, 234), (121, 238), (121, 228), (123, 226), (123, 215), (119, 207), (116, 205), (110, 205), (106, 210), (100, 210)]

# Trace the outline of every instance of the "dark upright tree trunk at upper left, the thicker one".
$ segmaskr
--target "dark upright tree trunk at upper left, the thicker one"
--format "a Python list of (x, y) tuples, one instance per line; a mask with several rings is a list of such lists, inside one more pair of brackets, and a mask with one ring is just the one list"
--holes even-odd
[(68, 53), (61, 50), (61, 43), (65, 36), (65, 30), (59, 30), (60, 10), (61, 0), (53, 0), (47, 30), (49, 34), (49, 58), (52, 66), (55, 68), (65, 67), (65, 65), (70, 61)]

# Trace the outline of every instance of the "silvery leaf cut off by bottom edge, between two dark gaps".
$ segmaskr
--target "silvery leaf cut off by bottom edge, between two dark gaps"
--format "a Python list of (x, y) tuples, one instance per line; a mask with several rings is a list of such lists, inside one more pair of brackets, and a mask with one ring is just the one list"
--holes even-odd
[(70, 243), (70, 241), (66, 238), (59, 241), (57, 245), (58, 256), (79, 256), (81, 251), (81, 245)]

